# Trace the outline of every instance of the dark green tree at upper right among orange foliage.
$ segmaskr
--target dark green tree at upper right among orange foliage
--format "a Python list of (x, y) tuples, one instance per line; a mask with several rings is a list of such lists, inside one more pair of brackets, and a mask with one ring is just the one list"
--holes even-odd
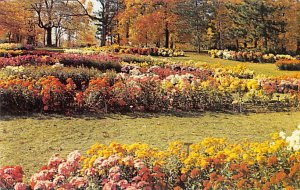
[(259, 39), (263, 41), (265, 49), (270, 47), (269, 42), (278, 46), (279, 34), (285, 32), (286, 23), (282, 16), (285, 5), (272, 0), (244, 0), (227, 7), (234, 23), (230, 30), (233, 36), (244, 38), (245, 44), (253, 42), (255, 48)]

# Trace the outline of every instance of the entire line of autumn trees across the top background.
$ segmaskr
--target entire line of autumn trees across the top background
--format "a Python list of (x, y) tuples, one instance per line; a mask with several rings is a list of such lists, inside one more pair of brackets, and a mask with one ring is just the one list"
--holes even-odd
[[(96, 43), (98, 37), (101, 46), (300, 53), (299, 0), (96, 1), (2, 0), (2, 33), (31, 41), (44, 33), (49, 46), (59, 46), (62, 36), (68, 36), (67, 42), (73, 39), (76, 44)], [(20, 14), (14, 16), (16, 10)]]

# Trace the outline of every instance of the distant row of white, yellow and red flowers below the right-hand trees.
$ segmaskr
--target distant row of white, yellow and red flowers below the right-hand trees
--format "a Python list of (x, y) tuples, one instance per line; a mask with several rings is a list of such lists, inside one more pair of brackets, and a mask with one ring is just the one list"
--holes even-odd
[(234, 61), (243, 62), (259, 62), (259, 63), (274, 63), (276, 60), (287, 59), (295, 60), (295, 57), (290, 55), (274, 55), (274, 54), (263, 54), (261, 52), (243, 52), (243, 51), (228, 51), (228, 50), (210, 50), (208, 51), (212, 58), (221, 58)]

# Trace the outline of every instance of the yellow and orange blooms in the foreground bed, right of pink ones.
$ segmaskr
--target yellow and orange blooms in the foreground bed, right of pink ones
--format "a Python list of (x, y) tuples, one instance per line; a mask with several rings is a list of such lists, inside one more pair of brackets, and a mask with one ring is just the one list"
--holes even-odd
[[(169, 178), (178, 175), (174, 189), (300, 187), (300, 152), (289, 150), (278, 134), (265, 142), (228, 143), (219, 138), (206, 138), (194, 144), (176, 141), (166, 150), (142, 143), (114, 142), (109, 146), (97, 143), (82, 157), (82, 171), (93, 168), (97, 158), (111, 156), (120, 158), (119, 165), (129, 166), (124, 159), (130, 156), (143, 161), (148, 168), (162, 168)], [(100, 169), (99, 173), (103, 172)]]

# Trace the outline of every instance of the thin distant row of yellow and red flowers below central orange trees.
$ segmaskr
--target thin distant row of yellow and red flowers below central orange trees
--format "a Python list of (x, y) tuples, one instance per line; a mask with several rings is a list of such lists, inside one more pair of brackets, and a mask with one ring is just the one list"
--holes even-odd
[(126, 46), (109, 46), (109, 47), (88, 47), (82, 49), (66, 49), (66, 53), (74, 54), (87, 54), (93, 55), (100, 52), (106, 53), (121, 53), (121, 54), (139, 54), (139, 55), (152, 55), (152, 56), (164, 56), (164, 57), (177, 57), (184, 56), (182, 50), (169, 49), (169, 48), (138, 48), (138, 47), (126, 47)]

